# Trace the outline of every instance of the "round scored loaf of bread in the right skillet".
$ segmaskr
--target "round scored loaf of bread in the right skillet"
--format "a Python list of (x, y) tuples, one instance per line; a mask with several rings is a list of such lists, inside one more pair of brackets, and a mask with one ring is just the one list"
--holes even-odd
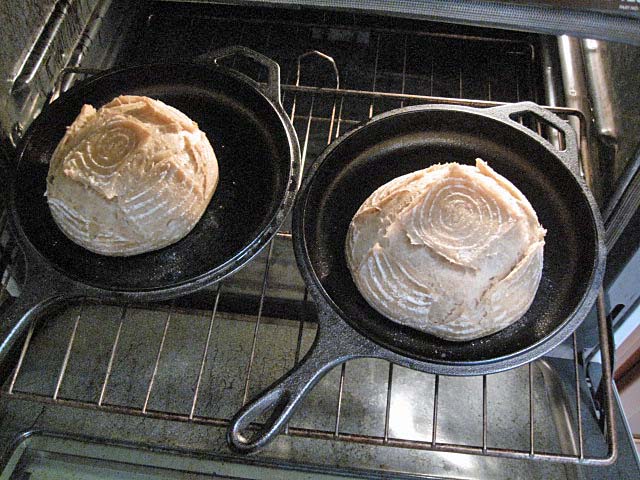
[(387, 318), (472, 340), (528, 310), (545, 233), (525, 196), (477, 159), (378, 188), (351, 221), (346, 258), (362, 296)]

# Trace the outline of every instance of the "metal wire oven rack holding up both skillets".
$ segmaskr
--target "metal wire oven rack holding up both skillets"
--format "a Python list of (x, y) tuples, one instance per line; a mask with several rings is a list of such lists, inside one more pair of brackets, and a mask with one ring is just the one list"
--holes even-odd
[[(258, 21), (258, 20), (255, 20)], [(349, 130), (353, 126), (357, 125), (361, 121), (365, 121), (368, 118), (371, 118), (374, 114), (380, 113), (383, 110), (401, 107), (411, 104), (422, 104), (422, 103), (432, 103), (432, 104), (456, 104), (456, 105), (465, 105), (470, 107), (491, 107), (503, 105), (506, 102), (497, 102), (491, 100), (491, 83), (487, 85), (488, 94), (487, 97), (489, 100), (475, 100), (475, 99), (467, 99), (463, 98), (463, 83), (462, 83), (462, 73), (460, 74), (459, 81), (459, 93), (460, 98), (452, 98), (452, 97), (442, 97), (435, 95), (423, 95), (423, 94), (415, 94), (415, 93), (405, 93), (405, 82), (407, 79), (406, 71), (404, 70), (407, 63), (407, 42), (406, 38), (409, 34), (405, 33), (405, 43), (404, 43), (404, 65), (402, 77), (400, 80), (401, 89), (400, 92), (391, 92), (379, 90), (376, 84), (376, 80), (378, 78), (378, 57), (380, 54), (380, 42), (378, 37), (378, 45), (375, 56), (375, 65), (374, 65), (374, 78), (373, 84), (369, 90), (366, 89), (354, 89), (354, 88), (340, 88), (340, 76), (339, 76), (339, 68), (333, 58), (321, 51), (310, 50), (305, 52), (304, 54), (297, 57), (296, 60), (296, 68), (289, 69), (289, 75), (287, 77), (286, 82), (282, 85), (282, 96), (283, 96), (283, 104), (287, 109), (287, 113), (289, 114), (292, 122), (296, 126), (298, 131), (298, 137), (300, 139), (301, 147), (302, 147), (302, 158), (303, 162), (307, 164), (313, 160), (313, 155), (318, 152), (310, 153), (310, 138), (317, 137), (320, 133), (326, 136), (326, 144), (330, 144), (335, 138), (339, 137), (342, 133)], [(241, 37), (242, 38), (242, 37)], [(495, 39), (494, 41), (499, 42), (503, 41), (501, 39)], [(327, 82), (329, 85), (326, 86), (316, 86), (316, 85), (307, 85), (303, 82), (303, 79), (311, 78), (310, 75), (305, 75), (305, 66), (310, 64), (327, 64), (329, 71), (334, 73), (332, 81)], [(75, 78), (76, 76), (82, 76), (87, 74), (94, 74), (99, 72), (99, 69), (87, 69), (82, 67), (68, 67), (64, 69), (60, 76), (59, 80), (56, 83), (56, 88), (51, 94), (50, 99), (53, 100), (59, 94), (61, 85), (66, 84), (68, 87), (70, 82), (69, 78)], [(295, 72), (295, 73), (292, 73)], [(293, 78), (295, 77), (295, 78)], [(329, 76), (331, 77), (331, 76)], [(428, 83), (427, 83), (428, 84)], [(430, 84), (433, 89), (434, 79), (433, 79), (433, 69), (432, 75), (430, 79)], [(519, 86), (516, 86), (516, 91), (519, 92)], [(433, 90), (430, 92), (432, 93)], [(515, 99), (520, 100), (520, 98)], [(368, 109), (357, 109), (360, 114), (354, 115), (353, 111), (348, 112), (346, 105), (350, 102), (355, 102), (358, 105), (366, 104), (368, 105)], [(580, 145), (581, 145), (581, 154), (582, 161), (584, 165), (584, 169), (588, 172), (588, 165), (585, 164), (585, 157), (588, 155), (588, 145), (589, 138), (587, 136), (587, 126), (586, 126), (586, 118), (583, 112), (577, 109), (572, 108), (563, 108), (563, 107), (546, 107), (550, 111), (557, 113), (565, 118), (575, 118), (579, 122), (580, 125)], [(547, 135), (545, 128), (540, 123), (535, 120), (531, 123), (530, 119), (522, 120), (525, 124), (527, 124), (530, 128), (533, 128), (538, 131), (538, 133), (542, 135)], [(527, 123), (529, 122), (529, 123)], [(323, 141), (324, 143), (324, 141)], [(6, 215), (2, 215), (0, 218), (0, 230), (4, 229), (6, 223)], [(261, 325), (264, 322), (276, 321), (273, 320), (273, 313), (271, 307), (268, 307), (270, 304), (270, 298), (268, 296), (269, 291), (269, 280), (270, 280), (270, 267), (272, 264), (274, 245), (277, 242), (289, 242), (290, 243), (291, 233), (285, 227), (282, 231), (280, 231), (276, 238), (270, 243), (267, 248), (266, 259), (264, 262), (264, 269), (262, 273), (262, 284), (260, 287), (259, 297), (257, 301), (254, 302), (257, 305), (257, 310), (254, 313), (255, 323), (253, 329), (253, 338), (251, 341), (251, 355), (249, 361), (246, 365), (246, 370), (244, 372), (244, 378), (242, 379), (243, 388), (242, 388), (242, 404), (247, 403), (249, 398), (249, 392), (251, 391), (250, 379), (252, 376), (252, 370), (255, 367), (254, 361), (256, 358), (256, 346), (259, 342), (259, 332)], [(9, 244), (10, 246), (10, 244)], [(292, 250), (290, 248), (290, 250)], [(292, 253), (292, 251), (290, 252)], [(6, 261), (7, 254), (3, 255), (3, 259), (7, 263), (4, 275), (2, 277), (2, 288), (0, 288), (0, 300), (5, 299), (7, 295), (7, 286), (10, 278), (10, 265)], [(233, 278), (231, 279), (233, 281)], [(189, 408), (187, 411), (188, 414), (175, 413), (173, 411), (165, 411), (161, 409), (153, 409), (150, 408), (150, 400), (153, 398), (154, 394), (154, 381), (157, 378), (159, 368), (161, 366), (161, 358), (163, 354), (163, 348), (165, 345), (165, 339), (167, 337), (167, 332), (169, 326), (171, 324), (172, 318), (174, 315), (177, 315), (180, 312), (188, 311), (193, 313), (201, 313), (201, 309), (193, 309), (183, 306), (183, 303), (180, 301), (173, 302), (169, 305), (127, 305), (121, 306), (119, 320), (118, 320), (118, 328), (116, 335), (114, 337), (113, 344), (110, 348), (110, 355), (108, 360), (107, 370), (103, 378), (98, 379), (100, 381), (100, 394), (96, 401), (87, 401), (85, 399), (73, 398), (70, 396), (60, 395), (61, 387), (64, 385), (65, 374), (67, 371), (67, 366), (70, 360), (70, 357), (73, 355), (74, 351), (74, 343), (77, 341), (76, 333), (78, 331), (78, 325), (83, 321), (83, 306), (79, 307), (79, 312), (75, 317), (75, 321), (73, 322), (72, 327), (68, 332), (68, 342), (65, 347), (64, 357), (62, 362), (58, 368), (58, 375), (55, 381), (55, 389), (52, 394), (43, 394), (43, 393), (34, 393), (21, 391), (17, 388), (17, 380), (20, 377), (22, 372), (22, 367), (25, 362), (25, 359), (29, 356), (31, 341), (34, 338), (34, 334), (37, 334), (37, 330), (35, 326), (32, 326), (27, 333), (25, 341), (22, 345), (22, 349), (20, 352), (20, 356), (17, 362), (15, 369), (10, 377), (10, 380), (6, 383), (4, 389), (1, 392), (1, 395), (5, 395), (11, 398), (30, 400), (35, 402), (40, 402), (44, 404), (59, 404), (66, 405), (76, 408), (82, 409), (90, 409), (90, 410), (102, 410), (105, 412), (115, 412), (115, 413), (123, 413), (127, 415), (134, 416), (142, 416), (142, 417), (150, 417), (150, 418), (159, 418), (164, 420), (172, 420), (178, 422), (190, 422), (196, 424), (205, 424), (205, 425), (213, 425), (216, 427), (224, 428), (229, 423), (229, 418), (224, 417), (214, 417), (214, 416), (203, 416), (198, 415), (196, 413), (196, 407), (198, 405), (198, 401), (200, 400), (200, 384), (203, 378), (203, 371), (205, 369), (208, 348), (212, 337), (212, 332), (215, 329), (216, 321), (218, 317), (222, 314), (220, 313), (219, 306), (225, 303), (226, 293), (226, 285), (228, 280), (222, 281), (217, 287), (211, 291), (206, 291), (204, 296), (208, 296), (208, 300), (205, 302), (210, 309), (208, 310), (209, 315), (209, 326), (207, 330), (207, 338), (205, 341), (204, 348), (200, 355), (200, 361), (198, 362), (198, 376), (197, 381), (193, 386), (193, 397), (191, 399)], [(202, 295), (201, 295), (202, 297)], [(303, 347), (303, 332), (307, 332), (307, 330), (313, 330), (313, 319), (311, 312), (313, 309), (310, 305), (308, 305), (309, 300), (307, 299), (306, 289), (304, 290), (303, 298), (301, 300), (302, 307), (294, 309), (293, 313), (291, 313), (291, 317), (294, 318), (296, 322), (298, 322), (298, 335), (295, 346), (295, 363), (297, 363), (300, 358), (303, 356), (305, 348)], [(0, 302), (1, 303), (1, 302)], [(187, 303), (188, 304), (188, 303)], [(109, 392), (109, 381), (110, 375), (112, 371), (112, 366), (114, 362), (114, 358), (118, 352), (119, 347), (119, 339), (120, 333), (123, 328), (123, 323), (125, 321), (125, 317), (127, 312), (131, 309), (137, 308), (145, 308), (149, 311), (160, 311), (165, 315), (164, 320), (164, 328), (163, 333), (160, 338), (159, 344), (157, 346), (157, 352), (155, 357), (155, 363), (153, 367), (153, 372), (150, 377), (150, 380), (146, 389), (145, 401), (141, 407), (131, 407), (131, 406), (123, 406), (110, 404), (105, 401)], [(277, 309), (276, 309), (277, 310)], [(267, 312), (269, 317), (265, 314)], [(386, 410), (384, 417), (384, 433), (381, 435), (371, 435), (365, 433), (350, 433), (341, 431), (341, 414), (342, 414), (342, 404), (343, 404), (343, 387), (346, 381), (348, 380), (349, 371), (348, 363), (343, 364), (340, 368), (340, 377), (339, 377), (339, 386), (338, 386), (338, 396), (335, 401), (335, 421), (333, 422), (332, 428), (329, 429), (317, 429), (317, 428), (302, 428), (302, 427), (293, 427), (287, 426), (284, 435), (292, 436), (292, 437), (306, 437), (313, 439), (321, 439), (321, 440), (338, 440), (342, 442), (353, 442), (359, 444), (366, 445), (379, 445), (379, 446), (388, 446), (388, 447), (397, 447), (403, 449), (413, 449), (413, 450), (426, 450), (426, 451), (436, 451), (436, 452), (449, 452), (449, 453), (463, 453), (463, 454), (473, 454), (473, 455), (486, 455), (492, 457), (502, 457), (502, 458), (513, 458), (513, 459), (528, 459), (532, 461), (548, 461), (548, 462), (559, 462), (559, 463), (572, 463), (579, 465), (608, 465), (615, 461), (617, 456), (617, 439), (615, 436), (615, 424), (614, 424), (614, 412), (613, 412), (613, 390), (612, 390), (612, 376), (611, 376), (611, 365), (610, 365), (610, 349), (611, 345), (609, 343), (609, 339), (607, 337), (607, 324), (606, 324), (606, 314), (604, 310), (604, 302), (602, 293), (598, 298), (597, 303), (597, 313), (598, 313), (598, 327), (599, 327), (599, 339), (600, 339), (600, 349), (602, 352), (602, 363), (603, 363), (603, 378), (602, 385), (604, 385), (604, 399), (603, 404), (599, 411), (596, 411), (596, 415), (599, 415), (601, 418), (602, 424), (604, 424), (602, 435), (607, 444), (607, 452), (605, 455), (589, 455), (586, 453), (585, 449), (585, 435), (583, 433), (583, 412), (582, 408), (585, 405), (584, 398), (581, 398), (581, 395), (584, 395), (584, 388), (582, 384), (584, 383), (584, 365), (581, 351), (578, 348), (579, 338), (574, 333), (570, 342), (570, 350), (571, 350), (571, 359), (573, 362), (574, 369), (574, 386), (573, 386), (573, 395), (575, 397), (575, 403), (572, 400), (572, 405), (575, 407), (575, 418), (577, 419), (577, 450), (568, 454), (568, 453), (555, 453), (555, 452), (545, 452), (540, 451), (535, 448), (535, 425), (534, 425), (534, 391), (533, 391), (533, 376), (534, 376), (534, 368), (535, 365), (533, 363), (528, 364), (526, 367), (528, 369), (528, 383), (529, 383), (529, 448), (528, 449), (512, 449), (512, 448), (496, 448), (492, 447), (488, 444), (487, 437), (488, 431), (490, 430), (488, 413), (487, 413), (487, 378), (488, 376), (482, 376), (482, 442), (478, 445), (468, 445), (468, 444), (456, 444), (456, 443), (447, 443), (438, 440), (438, 395), (439, 395), (439, 386), (440, 381), (443, 376), (435, 375), (434, 376), (434, 393), (433, 397), (429, 399), (433, 405), (433, 418), (432, 418), (432, 435), (428, 440), (412, 440), (406, 438), (398, 438), (390, 435), (389, 424), (390, 424), (390, 402), (392, 397), (392, 389), (393, 389), (393, 379), (394, 379), (394, 365), (388, 363), (386, 367), (388, 369), (387, 375), (387, 391), (386, 391)], [(288, 314), (289, 316), (289, 314)], [(287, 320), (291, 320), (288, 318)], [(308, 333), (308, 332), (307, 332)], [(131, 372), (134, 374), (134, 372)], [(426, 374), (425, 374), (426, 375)], [(569, 406), (567, 406), (569, 407)], [(304, 408), (304, 406), (303, 406)]]

